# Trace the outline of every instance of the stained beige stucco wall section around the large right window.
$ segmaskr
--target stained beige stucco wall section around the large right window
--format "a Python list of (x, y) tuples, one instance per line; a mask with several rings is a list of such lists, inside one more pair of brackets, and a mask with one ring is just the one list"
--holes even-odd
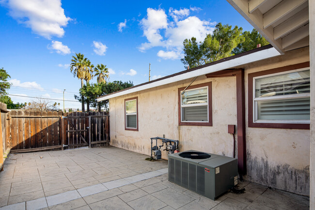
[[(248, 74), (307, 62), (308, 49), (288, 51), (283, 56), (245, 66), (246, 113), (248, 113)], [(248, 117), (246, 117), (246, 126), (248, 126)], [(247, 127), (247, 177), (245, 178), (281, 190), (309, 195), (309, 146), (309, 130)]]

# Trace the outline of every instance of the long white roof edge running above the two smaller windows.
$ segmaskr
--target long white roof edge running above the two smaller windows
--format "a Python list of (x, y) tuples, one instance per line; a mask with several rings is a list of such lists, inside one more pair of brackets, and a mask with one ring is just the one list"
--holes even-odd
[(221, 71), (224, 69), (234, 68), (236, 66), (245, 65), (245, 64), (249, 64), (252, 62), (256, 62), (256, 61), (260, 61), (260, 60), (264, 60), (267, 58), (280, 55), (280, 53), (275, 48), (272, 48), (272, 47), (270, 48), (270, 47), (271, 46), (268, 45), (261, 48), (256, 48), (248, 52), (244, 52), (235, 56), (224, 58), (210, 64), (206, 64), (206, 65), (202, 65), (196, 68), (178, 72), (173, 75), (166, 76), (166, 77), (154, 80), (154, 81), (145, 82), (145, 83), (127, 88), (122, 91), (118, 91), (112, 94), (98, 97), (97, 101), (102, 101), (102, 100), (107, 100), (113, 97), (123, 96), (123, 95), (134, 93), (137, 91), (142, 91), (145, 89), (158, 87), (165, 84), (170, 84), (172, 82), (194, 78), (197, 76), (213, 73), (216, 71)]

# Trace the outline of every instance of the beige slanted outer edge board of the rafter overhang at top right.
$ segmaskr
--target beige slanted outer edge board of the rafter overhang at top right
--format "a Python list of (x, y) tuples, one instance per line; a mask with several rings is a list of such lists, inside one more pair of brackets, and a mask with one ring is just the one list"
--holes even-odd
[(263, 14), (259, 10), (249, 13), (248, 0), (227, 0), (236, 11), (243, 16), (267, 41), (276, 48), (281, 54), (284, 54), (281, 39), (274, 40), (273, 27), (264, 29)]

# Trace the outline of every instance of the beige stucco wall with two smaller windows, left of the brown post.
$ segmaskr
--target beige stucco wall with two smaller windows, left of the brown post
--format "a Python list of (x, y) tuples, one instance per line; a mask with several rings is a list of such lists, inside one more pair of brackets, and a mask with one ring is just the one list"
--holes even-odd
[[(111, 145), (151, 154), (151, 137), (179, 140), (180, 151), (195, 149), (232, 157), (233, 136), (227, 125), (236, 125), (236, 79), (198, 77), (194, 84), (212, 81), (213, 126), (178, 126), (178, 88), (191, 79), (110, 99)], [(224, 90), (224, 91), (222, 91)], [(138, 97), (139, 131), (125, 130), (125, 98)], [(158, 142), (161, 145), (161, 142)], [(167, 153), (162, 153), (167, 159)]]

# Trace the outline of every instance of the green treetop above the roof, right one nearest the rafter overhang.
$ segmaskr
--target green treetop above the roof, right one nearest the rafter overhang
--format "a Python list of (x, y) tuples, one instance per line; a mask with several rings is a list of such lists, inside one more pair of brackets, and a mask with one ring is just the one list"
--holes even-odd
[(233, 49), (232, 53), (239, 54), (256, 48), (258, 44), (261, 44), (261, 46), (269, 44), (269, 42), (260, 35), (256, 29), (253, 29), (252, 32), (243, 32), (243, 37), (244, 42), (239, 43), (236, 48)]

